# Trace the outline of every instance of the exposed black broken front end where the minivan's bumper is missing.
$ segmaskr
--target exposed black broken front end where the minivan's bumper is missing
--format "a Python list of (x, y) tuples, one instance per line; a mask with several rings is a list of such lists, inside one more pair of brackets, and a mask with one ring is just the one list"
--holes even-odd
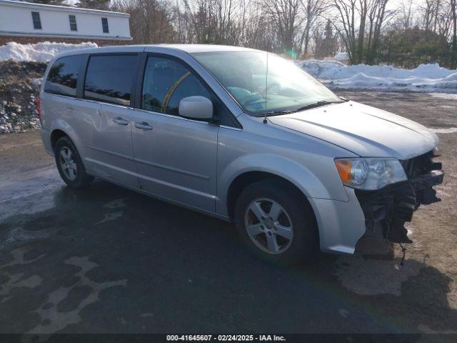
[(433, 162), (433, 151), (413, 159), (401, 161), (408, 180), (390, 184), (376, 191), (355, 190), (365, 216), (366, 235), (388, 239), (391, 242), (411, 243), (405, 222), (411, 222), (414, 211), (421, 204), (433, 204), (436, 197), (433, 186), (443, 182), (441, 163)]

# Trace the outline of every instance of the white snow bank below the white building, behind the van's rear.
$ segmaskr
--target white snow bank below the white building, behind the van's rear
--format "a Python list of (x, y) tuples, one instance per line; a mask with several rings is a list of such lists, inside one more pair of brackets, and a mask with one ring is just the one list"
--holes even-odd
[(87, 42), (81, 44), (51, 43), (44, 41), (37, 44), (18, 44), (15, 42), (0, 46), (0, 61), (12, 59), (14, 61), (46, 62), (64, 51), (96, 48), (97, 44)]

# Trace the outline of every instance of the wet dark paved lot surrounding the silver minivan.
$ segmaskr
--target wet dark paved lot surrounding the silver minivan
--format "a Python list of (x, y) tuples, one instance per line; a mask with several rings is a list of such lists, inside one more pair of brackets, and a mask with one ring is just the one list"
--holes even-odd
[[(341, 94), (457, 127), (457, 97)], [(231, 224), (106, 182), (66, 189), (38, 131), (1, 135), (0, 332), (457, 333), (457, 132), (438, 135), (442, 202), (408, 225), (403, 267), (364, 240), (293, 269), (251, 257)]]

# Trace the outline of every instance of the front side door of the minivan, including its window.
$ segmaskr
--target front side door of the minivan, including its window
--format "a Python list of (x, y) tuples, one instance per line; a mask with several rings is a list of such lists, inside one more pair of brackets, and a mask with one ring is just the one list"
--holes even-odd
[(179, 116), (179, 101), (209, 91), (184, 64), (149, 56), (134, 111), (133, 141), (141, 188), (213, 212), (219, 127)]

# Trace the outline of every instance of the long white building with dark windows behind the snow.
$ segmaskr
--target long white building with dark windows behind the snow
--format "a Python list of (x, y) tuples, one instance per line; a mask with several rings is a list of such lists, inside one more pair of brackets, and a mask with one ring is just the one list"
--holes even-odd
[(129, 14), (0, 0), (0, 36), (129, 41)]

